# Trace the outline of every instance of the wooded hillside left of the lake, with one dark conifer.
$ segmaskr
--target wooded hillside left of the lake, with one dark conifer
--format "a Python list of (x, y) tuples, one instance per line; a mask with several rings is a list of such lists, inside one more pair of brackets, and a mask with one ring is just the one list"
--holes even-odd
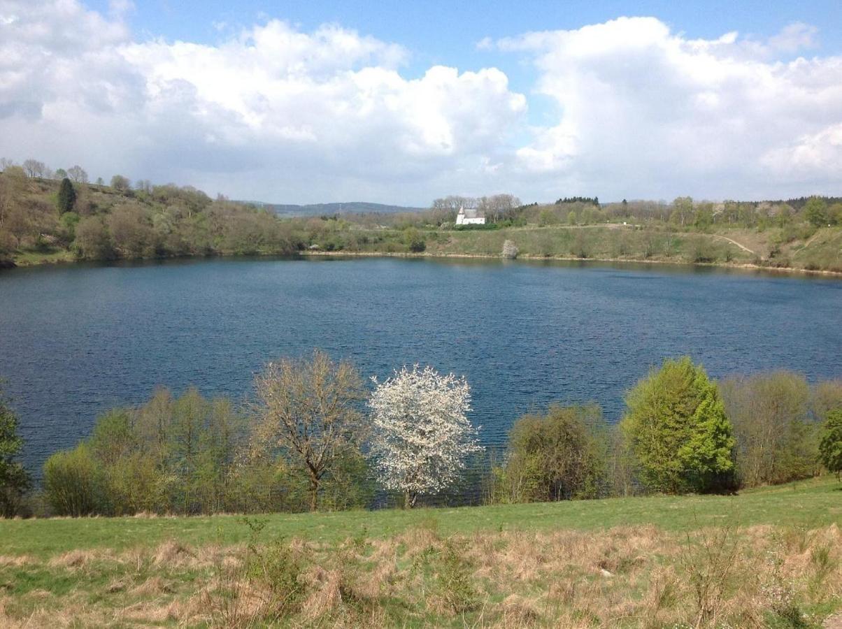
[[(290, 254), (299, 235), (275, 214), (189, 186), (115, 175), (88, 182), (79, 166), (55, 176), (24, 161), (0, 174), (0, 259), (16, 252), (72, 251), (83, 260), (219, 254)], [(77, 168), (78, 172), (74, 169)]]

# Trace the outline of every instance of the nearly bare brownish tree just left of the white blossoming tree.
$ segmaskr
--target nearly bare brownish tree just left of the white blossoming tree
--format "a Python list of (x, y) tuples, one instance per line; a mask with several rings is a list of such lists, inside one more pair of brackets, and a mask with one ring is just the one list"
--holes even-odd
[(319, 485), (333, 464), (359, 450), (364, 398), (360, 374), (350, 362), (333, 362), (315, 350), (310, 360), (269, 362), (254, 379), (258, 444), (282, 448), (306, 473), (310, 510), (318, 508)]

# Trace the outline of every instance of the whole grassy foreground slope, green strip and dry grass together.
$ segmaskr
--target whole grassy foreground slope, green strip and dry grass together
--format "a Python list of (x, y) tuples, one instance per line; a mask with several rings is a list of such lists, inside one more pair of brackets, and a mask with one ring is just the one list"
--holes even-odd
[(3, 626), (820, 626), (842, 490), (0, 521)]

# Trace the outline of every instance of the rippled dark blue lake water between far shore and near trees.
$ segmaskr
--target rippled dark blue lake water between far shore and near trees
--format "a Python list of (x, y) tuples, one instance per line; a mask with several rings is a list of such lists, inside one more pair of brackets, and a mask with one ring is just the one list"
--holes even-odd
[(552, 401), (611, 421), (663, 357), (713, 376), (787, 367), (842, 377), (842, 281), (693, 267), (394, 258), (212, 260), (0, 272), (0, 377), (26, 462), (159, 385), (242, 397), (264, 362), (322, 347), (386, 378), (464, 374), (498, 444)]

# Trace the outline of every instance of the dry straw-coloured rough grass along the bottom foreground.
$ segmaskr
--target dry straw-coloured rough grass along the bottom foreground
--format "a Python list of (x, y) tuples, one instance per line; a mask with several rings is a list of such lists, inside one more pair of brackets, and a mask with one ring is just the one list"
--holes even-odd
[(0, 626), (805, 627), (842, 609), (836, 525), (449, 537), (428, 525), (333, 544), (18, 559), (3, 558), (0, 583), (46, 569), (74, 585), (7, 590)]

